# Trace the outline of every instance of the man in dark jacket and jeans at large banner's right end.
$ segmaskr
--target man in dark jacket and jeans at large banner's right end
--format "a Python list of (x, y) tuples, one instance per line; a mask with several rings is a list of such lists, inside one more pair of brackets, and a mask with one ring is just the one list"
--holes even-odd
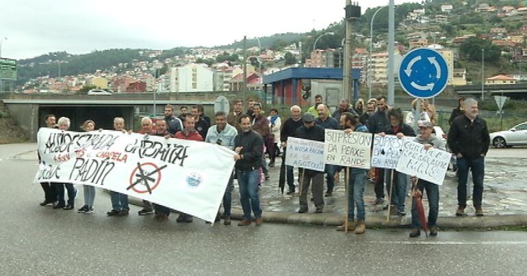
[(240, 128), (242, 132), (234, 139), (235, 169), (240, 186), (240, 203), (244, 210), (244, 217), (238, 226), (250, 225), (250, 210), (256, 217), (256, 225), (261, 225), (260, 199), (258, 195), (258, 184), (260, 181), (261, 154), (264, 148), (264, 139), (250, 129), (251, 121), (249, 115), (240, 117)]

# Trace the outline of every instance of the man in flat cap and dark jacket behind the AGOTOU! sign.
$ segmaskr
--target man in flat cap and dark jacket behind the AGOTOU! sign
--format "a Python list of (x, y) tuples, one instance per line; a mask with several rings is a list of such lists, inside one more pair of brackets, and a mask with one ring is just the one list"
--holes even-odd
[[(324, 128), (315, 124), (315, 116), (306, 112), (302, 115), (302, 121), (304, 126), (298, 128), (295, 133), (295, 137), (306, 140), (321, 141), (325, 139)], [(324, 172), (313, 171), (312, 169), (298, 169), (300, 174), (300, 210), (298, 212), (307, 212), (307, 191), (309, 190), (309, 183), (313, 180), (313, 199), (315, 202), (315, 212), (320, 213), (324, 208)]]

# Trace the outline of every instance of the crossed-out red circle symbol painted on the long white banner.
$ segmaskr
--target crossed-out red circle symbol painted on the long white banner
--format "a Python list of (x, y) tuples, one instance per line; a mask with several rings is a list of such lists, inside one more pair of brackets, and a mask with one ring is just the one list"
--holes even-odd
[[(161, 182), (161, 170), (166, 167), (162, 165), (157, 167), (154, 163), (137, 163), (137, 167), (130, 174), (130, 186), (127, 190), (132, 189), (136, 193), (149, 193)], [(138, 187), (138, 184), (140, 186)]]

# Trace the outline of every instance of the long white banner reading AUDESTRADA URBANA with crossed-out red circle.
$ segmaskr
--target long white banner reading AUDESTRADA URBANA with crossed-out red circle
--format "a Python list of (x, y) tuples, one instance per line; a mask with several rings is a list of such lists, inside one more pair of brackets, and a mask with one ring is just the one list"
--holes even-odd
[(34, 182), (90, 185), (214, 221), (234, 159), (210, 143), (127, 134), (38, 131)]

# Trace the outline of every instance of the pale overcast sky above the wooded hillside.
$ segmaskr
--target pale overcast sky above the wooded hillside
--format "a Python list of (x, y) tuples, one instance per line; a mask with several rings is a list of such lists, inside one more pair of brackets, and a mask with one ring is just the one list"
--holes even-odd
[[(353, 0), (355, 1), (355, 0)], [(387, 0), (358, 1), (362, 12)], [(395, 3), (416, 2), (396, 0)], [(216, 46), (273, 33), (323, 29), (345, 0), (1, 0), (2, 57), (53, 51)]]

